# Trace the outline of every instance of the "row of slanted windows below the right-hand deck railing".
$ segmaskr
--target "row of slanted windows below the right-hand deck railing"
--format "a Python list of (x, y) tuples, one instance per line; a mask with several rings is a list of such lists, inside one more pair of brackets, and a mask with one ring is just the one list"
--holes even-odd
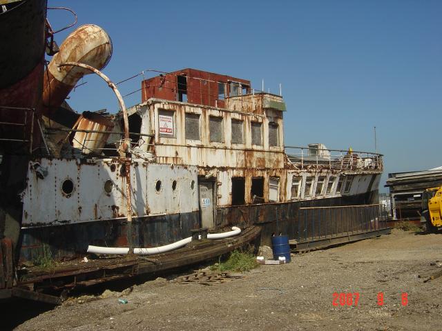
[[(335, 194), (339, 194), (340, 192), (348, 193), (352, 186), (353, 176), (340, 176), (338, 182), (336, 183), (336, 177), (330, 176), (327, 185), (326, 179), (327, 177), (318, 177), (318, 181), (316, 182), (316, 188), (313, 192), (314, 181), (316, 177), (305, 177), (304, 184), (304, 197), (318, 197), (322, 195), (332, 195), (334, 190), (334, 185), (336, 185)], [(299, 199), (301, 197), (301, 188), (302, 188), (302, 177), (294, 176), (291, 181), (291, 199)]]

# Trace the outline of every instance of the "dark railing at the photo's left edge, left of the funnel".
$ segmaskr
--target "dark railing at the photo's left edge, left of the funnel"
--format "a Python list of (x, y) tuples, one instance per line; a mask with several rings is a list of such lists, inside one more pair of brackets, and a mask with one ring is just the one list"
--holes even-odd
[[(23, 112), (17, 115), (17, 112)], [(18, 118), (18, 121), (17, 121)], [(11, 141), (29, 144), (29, 152), (32, 152), (32, 135), (35, 121), (35, 108), (0, 106), (0, 141)], [(7, 119), (3, 121), (3, 119)], [(12, 121), (10, 121), (11, 119)], [(23, 121), (21, 121), (21, 119)], [(39, 128), (41, 130), (40, 123)], [(17, 131), (17, 128), (21, 129)], [(22, 131), (22, 132), (20, 132)], [(6, 136), (7, 134), (7, 136)]]

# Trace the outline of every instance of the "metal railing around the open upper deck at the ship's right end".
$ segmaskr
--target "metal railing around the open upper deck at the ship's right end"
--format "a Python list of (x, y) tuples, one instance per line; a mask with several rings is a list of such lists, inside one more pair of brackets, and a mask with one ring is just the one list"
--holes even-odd
[(383, 154), (358, 150), (285, 146), (289, 162), (300, 170), (382, 170)]

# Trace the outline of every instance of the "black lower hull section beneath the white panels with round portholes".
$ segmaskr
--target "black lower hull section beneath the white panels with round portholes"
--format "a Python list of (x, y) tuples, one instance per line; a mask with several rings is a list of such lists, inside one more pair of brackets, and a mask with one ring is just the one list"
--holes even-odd
[[(199, 212), (142, 217), (133, 220), (135, 247), (166, 245), (199, 228)], [(126, 219), (94, 221), (21, 230), (19, 261), (37, 261), (50, 249), (53, 259), (71, 259), (86, 254), (88, 245), (128, 247)]]

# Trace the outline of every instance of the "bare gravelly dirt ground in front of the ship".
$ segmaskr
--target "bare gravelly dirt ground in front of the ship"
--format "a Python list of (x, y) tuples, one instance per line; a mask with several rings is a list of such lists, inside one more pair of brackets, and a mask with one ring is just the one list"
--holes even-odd
[[(439, 270), (430, 265), (436, 260), (442, 234), (393, 230), (262, 265), (226, 283), (157, 279), (70, 299), (15, 330), (441, 330), (442, 277), (418, 277)], [(333, 305), (334, 292), (357, 292), (358, 305)]]

